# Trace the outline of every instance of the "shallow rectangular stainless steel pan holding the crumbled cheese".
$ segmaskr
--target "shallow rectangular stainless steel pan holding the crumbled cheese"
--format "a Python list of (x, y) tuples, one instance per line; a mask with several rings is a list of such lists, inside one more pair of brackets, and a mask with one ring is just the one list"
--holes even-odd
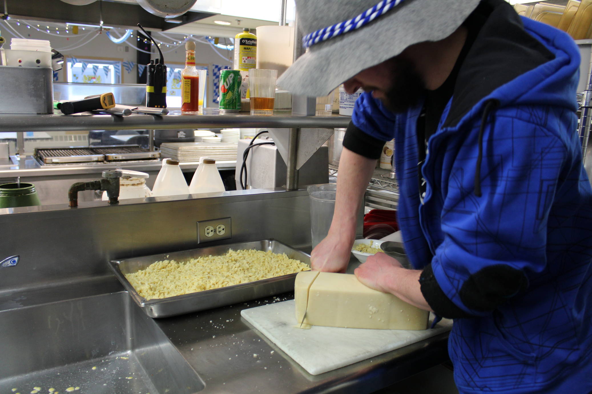
[(124, 276), (127, 273), (133, 273), (145, 269), (155, 261), (186, 261), (200, 256), (209, 256), (210, 254), (213, 256), (220, 256), (230, 249), (271, 250), (273, 253), (285, 253), (290, 259), (300, 260), (310, 266), (309, 254), (272, 239), (182, 250), (173, 253), (153, 254), (152, 256), (133, 257), (124, 260), (111, 260), (109, 266), (115, 273), (115, 276), (117, 276), (117, 279), (130, 293), (134, 302), (136, 302), (148, 316), (153, 318), (203, 311), (204, 309), (232, 305), (237, 302), (250, 301), (294, 290), (295, 273), (271, 277), (269, 279), (256, 280), (255, 282), (250, 283), (241, 283), (240, 285), (226, 286), (220, 289), (204, 290), (197, 293), (147, 300), (136, 292)]

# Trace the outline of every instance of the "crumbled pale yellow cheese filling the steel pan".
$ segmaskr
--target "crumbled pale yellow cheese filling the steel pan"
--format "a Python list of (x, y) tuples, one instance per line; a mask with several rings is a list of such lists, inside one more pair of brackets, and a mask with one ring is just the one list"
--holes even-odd
[(289, 259), (285, 253), (229, 250), (223, 256), (203, 256), (189, 261), (156, 261), (144, 270), (126, 274), (126, 279), (140, 296), (155, 299), (307, 270), (310, 270), (307, 264)]

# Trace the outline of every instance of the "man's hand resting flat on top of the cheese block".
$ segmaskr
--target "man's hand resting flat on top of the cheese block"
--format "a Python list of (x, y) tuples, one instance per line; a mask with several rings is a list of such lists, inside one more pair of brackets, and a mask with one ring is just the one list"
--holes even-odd
[(397, 274), (397, 269), (403, 269), (397, 259), (379, 252), (374, 256), (368, 256), (366, 262), (360, 264), (353, 273), (369, 288), (390, 293), (391, 278)]

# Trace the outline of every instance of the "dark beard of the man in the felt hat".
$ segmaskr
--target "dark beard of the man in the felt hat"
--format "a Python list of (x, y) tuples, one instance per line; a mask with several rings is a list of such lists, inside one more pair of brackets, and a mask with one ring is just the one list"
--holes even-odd
[(404, 58), (392, 59), (391, 72), (392, 84), (385, 91), (386, 99), (382, 101), (385, 106), (392, 112), (405, 112), (419, 104), (426, 84), (414, 64)]

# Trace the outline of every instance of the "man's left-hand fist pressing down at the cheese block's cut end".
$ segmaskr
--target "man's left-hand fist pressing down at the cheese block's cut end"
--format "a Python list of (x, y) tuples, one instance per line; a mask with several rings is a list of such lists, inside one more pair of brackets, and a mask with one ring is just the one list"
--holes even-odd
[(310, 254), (313, 271), (345, 272), (348, 268), (352, 246), (340, 237), (327, 235)]

